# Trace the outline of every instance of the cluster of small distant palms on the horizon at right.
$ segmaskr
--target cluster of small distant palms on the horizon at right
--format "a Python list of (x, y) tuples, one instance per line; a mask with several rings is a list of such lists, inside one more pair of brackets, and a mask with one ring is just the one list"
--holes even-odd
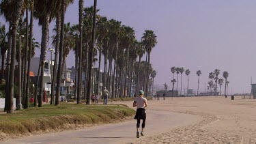
[[(172, 88), (173, 91), (174, 91), (175, 83), (176, 84), (178, 83), (179, 74), (181, 74), (181, 76), (182, 76), (183, 72), (185, 72), (185, 74), (188, 78), (188, 83), (189, 83), (189, 77), (188, 77), (188, 75), (190, 74), (189, 69), (184, 70), (183, 67), (182, 68), (178, 68), (178, 67), (174, 67), (174, 66), (171, 67), (171, 73), (173, 74), (173, 78), (171, 79), (171, 83), (173, 85), (173, 88)], [(177, 74), (177, 81), (174, 78), (175, 73)], [(199, 96), (199, 83), (200, 83), (201, 70), (197, 70), (196, 74), (198, 76), (197, 96)], [(223, 78), (218, 78), (219, 74), (220, 74), (220, 70), (218, 70), (218, 69), (214, 70), (214, 72), (210, 72), (210, 74), (209, 74), (210, 81), (208, 82), (208, 93), (210, 92), (209, 93), (210, 96), (213, 93), (213, 89), (214, 89), (215, 96), (217, 95), (217, 85), (220, 85), (220, 95), (221, 95), (221, 87), (224, 83), (223, 78), (225, 78), (225, 96), (227, 95), (227, 87), (229, 85), (229, 81), (227, 81), (227, 77), (229, 76), (229, 73), (227, 71), (223, 72)], [(214, 84), (213, 79), (215, 80), (215, 84)], [(187, 89), (188, 89), (188, 83), (187, 83)], [(176, 91), (178, 91), (177, 85), (176, 85)], [(180, 83), (180, 94), (182, 94), (182, 79), (181, 79), (181, 83)]]

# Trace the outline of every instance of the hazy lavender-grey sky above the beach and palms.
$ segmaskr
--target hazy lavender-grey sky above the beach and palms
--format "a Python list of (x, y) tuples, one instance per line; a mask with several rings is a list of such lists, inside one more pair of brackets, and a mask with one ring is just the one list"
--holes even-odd
[[(70, 5), (66, 22), (79, 22), (78, 5), (78, 0)], [(85, 1), (85, 6), (90, 5), (92, 0)], [(255, 0), (98, 0), (98, 8), (102, 16), (133, 27), (138, 40), (145, 29), (155, 31), (158, 44), (152, 50), (151, 62), (157, 71), (156, 85), (167, 83), (171, 88), (172, 66), (190, 69), (189, 85), (193, 89), (197, 89), (197, 70), (202, 72), (199, 89), (204, 90), (209, 72), (216, 68), (221, 70), (221, 77), (223, 71), (229, 72), (232, 93), (251, 91), (251, 76), (256, 83)], [(34, 35), (40, 42), (37, 24)], [(53, 25), (54, 21), (50, 31)], [(69, 67), (74, 66), (74, 54), (70, 53)], [(184, 88), (186, 78), (183, 76)]]

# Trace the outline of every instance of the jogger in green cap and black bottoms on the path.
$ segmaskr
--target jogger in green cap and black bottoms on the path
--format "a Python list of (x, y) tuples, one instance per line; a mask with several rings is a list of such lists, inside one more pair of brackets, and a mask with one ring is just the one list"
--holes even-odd
[(139, 91), (139, 96), (134, 100), (133, 107), (137, 106), (137, 111), (134, 119), (137, 119), (137, 138), (139, 138), (139, 126), (142, 119), (141, 125), (141, 136), (143, 136), (143, 130), (145, 128), (145, 121), (146, 121), (146, 109), (147, 107), (147, 99), (143, 98), (144, 91)]

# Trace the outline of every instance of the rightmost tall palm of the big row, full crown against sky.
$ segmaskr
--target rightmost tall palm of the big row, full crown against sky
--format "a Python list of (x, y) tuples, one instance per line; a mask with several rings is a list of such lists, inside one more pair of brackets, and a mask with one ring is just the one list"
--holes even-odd
[[(145, 30), (145, 33), (143, 33), (143, 37), (141, 38), (143, 45), (145, 46), (145, 49), (148, 53), (148, 59), (147, 59), (147, 68), (150, 68), (150, 53), (152, 51), (152, 48), (154, 48), (157, 44), (156, 40), (156, 34), (152, 30)], [(146, 71), (146, 88), (145, 88), (145, 96), (147, 96), (147, 83), (149, 79), (149, 73)]]

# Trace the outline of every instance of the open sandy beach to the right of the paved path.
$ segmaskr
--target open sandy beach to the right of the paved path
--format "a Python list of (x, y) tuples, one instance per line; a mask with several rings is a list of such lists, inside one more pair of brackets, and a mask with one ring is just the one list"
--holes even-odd
[(256, 143), (256, 100), (248, 97), (167, 98), (153, 100), (149, 109), (188, 113), (202, 119), (135, 143)]

